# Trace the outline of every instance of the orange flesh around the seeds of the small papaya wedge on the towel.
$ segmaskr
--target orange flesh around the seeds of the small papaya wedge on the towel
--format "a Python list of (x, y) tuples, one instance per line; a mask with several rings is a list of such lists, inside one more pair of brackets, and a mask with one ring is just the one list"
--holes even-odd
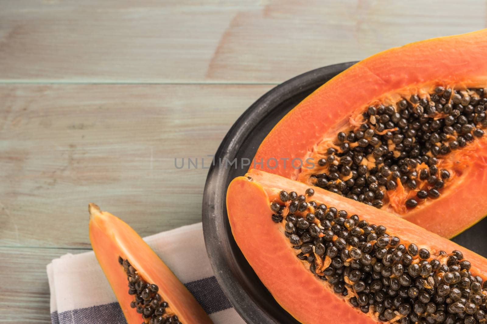
[(90, 241), (95, 256), (122, 308), (128, 324), (143, 323), (142, 315), (130, 307), (127, 275), (118, 256), (128, 259), (142, 279), (159, 287), (159, 294), (184, 324), (213, 323), (186, 287), (150, 246), (125, 222), (90, 204)]

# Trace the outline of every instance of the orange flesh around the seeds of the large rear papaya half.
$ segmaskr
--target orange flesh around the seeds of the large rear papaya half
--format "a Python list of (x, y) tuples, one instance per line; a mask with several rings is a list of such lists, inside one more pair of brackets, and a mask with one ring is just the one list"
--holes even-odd
[[(254, 159), (305, 161), (323, 139), (336, 136), (340, 128), (377, 101), (388, 102), (401, 94), (428, 93), (437, 85), (485, 87), (487, 62), (482, 57), (486, 51), (484, 29), (424, 40), (364, 59), (319, 87), (284, 116), (262, 141)], [(289, 136), (289, 130), (295, 130), (296, 136)], [(387, 205), (383, 208), (446, 238), (480, 221), (487, 215), (487, 203), (476, 199), (474, 193), (487, 190), (487, 140), (476, 142), (462, 178), (445, 188), (440, 198), (409, 210), (397, 211)], [(286, 168), (282, 162), (275, 169), (266, 163), (256, 168), (303, 182), (309, 178), (305, 177), (307, 169), (294, 169), (289, 163)], [(445, 215), (455, 217), (448, 219)]]

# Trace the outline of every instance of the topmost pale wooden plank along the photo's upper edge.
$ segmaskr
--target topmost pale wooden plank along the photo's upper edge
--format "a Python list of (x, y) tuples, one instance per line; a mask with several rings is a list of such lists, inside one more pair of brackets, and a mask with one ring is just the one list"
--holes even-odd
[(486, 27), (465, 1), (0, 0), (0, 81), (280, 83)]

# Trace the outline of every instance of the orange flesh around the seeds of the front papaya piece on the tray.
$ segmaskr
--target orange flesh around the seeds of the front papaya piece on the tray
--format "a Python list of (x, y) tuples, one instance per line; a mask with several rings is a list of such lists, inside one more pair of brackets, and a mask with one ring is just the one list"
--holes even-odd
[[(296, 257), (289, 240), (281, 232), (281, 223), (272, 222), (273, 212), (269, 206), (280, 200), (281, 190), (300, 194), (307, 188), (309, 186), (297, 181), (258, 170), (235, 178), (228, 186), (226, 196), (235, 241), (276, 301), (301, 323), (322, 323), (324, 314), (332, 316), (337, 324), (377, 323), (370, 313), (360, 312), (328, 290)], [(420, 248), (427, 248), (432, 255), (439, 250), (462, 251), (464, 258), (472, 264), (472, 274), (480, 275), (484, 280), (487, 278), (486, 258), (386, 211), (321, 188), (314, 189), (312, 200), (357, 214), (370, 223), (382, 224), (403, 244), (414, 242)]]

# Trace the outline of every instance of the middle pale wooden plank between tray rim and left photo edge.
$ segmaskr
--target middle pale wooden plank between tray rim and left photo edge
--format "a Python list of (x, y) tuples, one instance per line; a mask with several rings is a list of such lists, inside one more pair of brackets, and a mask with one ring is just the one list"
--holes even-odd
[(0, 85), (0, 246), (88, 248), (89, 202), (141, 236), (200, 222), (207, 170), (174, 158), (214, 154), (271, 87)]

